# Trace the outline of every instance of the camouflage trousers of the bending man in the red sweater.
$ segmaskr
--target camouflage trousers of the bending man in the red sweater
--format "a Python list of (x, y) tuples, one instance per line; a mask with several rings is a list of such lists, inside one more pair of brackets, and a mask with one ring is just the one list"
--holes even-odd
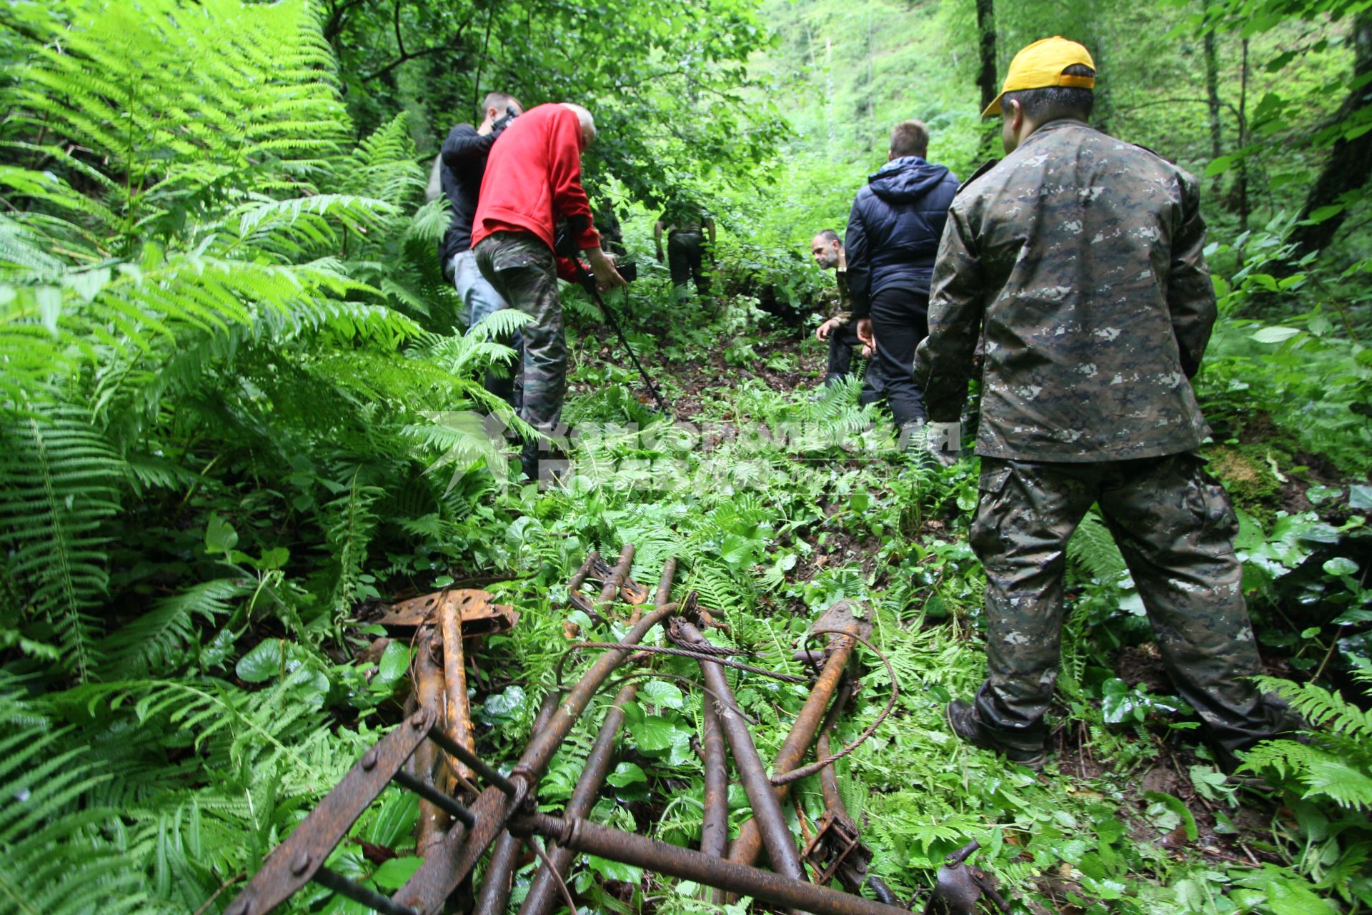
[[(567, 336), (557, 298), (553, 250), (527, 232), (494, 232), (476, 248), (476, 265), (509, 307), (532, 320), (524, 337), (524, 391), (519, 416), (543, 433), (553, 433), (567, 395)], [(524, 446), (524, 472), (538, 479), (538, 443)]]

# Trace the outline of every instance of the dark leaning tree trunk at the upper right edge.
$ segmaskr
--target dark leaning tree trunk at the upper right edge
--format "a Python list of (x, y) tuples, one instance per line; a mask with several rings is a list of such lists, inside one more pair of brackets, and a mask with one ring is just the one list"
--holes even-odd
[[(1346, 123), (1351, 118), (1372, 118), (1372, 89), (1358, 85), (1372, 74), (1372, 14), (1362, 12), (1353, 21), (1353, 85), (1354, 89), (1339, 107), (1335, 115), (1336, 123)], [(1301, 207), (1301, 218), (1306, 219), (1320, 207), (1339, 203), (1345, 195), (1360, 189), (1372, 174), (1372, 130), (1368, 130), (1353, 140), (1339, 139), (1329, 152), (1329, 158), (1320, 170), (1320, 177), (1314, 180), (1314, 187), (1305, 198)], [(1291, 233), (1291, 241), (1297, 244), (1298, 252), (1317, 251), (1334, 240), (1347, 211), (1338, 213), (1317, 225), (1298, 225)]]

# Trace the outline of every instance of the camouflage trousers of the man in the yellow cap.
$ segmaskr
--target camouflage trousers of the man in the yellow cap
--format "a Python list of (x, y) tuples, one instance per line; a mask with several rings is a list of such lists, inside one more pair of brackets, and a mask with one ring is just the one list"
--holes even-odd
[(1229, 495), (1194, 453), (1099, 464), (982, 458), (970, 543), (986, 569), (988, 678), (975, 711), (1007, 746), (1037, 749), (1062, 642), (1066, 545), (1099, 502), (1177, 693), (1221, 753), (1286, 730), (1261, 672), (1233, 554)]

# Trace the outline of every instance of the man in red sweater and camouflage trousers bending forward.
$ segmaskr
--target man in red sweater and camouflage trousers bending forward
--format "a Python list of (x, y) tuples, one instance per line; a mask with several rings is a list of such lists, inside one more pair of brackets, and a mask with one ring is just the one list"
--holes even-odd
[[(524, 325), (524, 401), (520, 418), (553, 433), (567, 394), (567, 339), (557, 277), (573, 280), (575, 266), (553, 251), (558, 218), (602, 288), (624, 285), (600, 247), (591, 206), (582, 189), (582, 151), (595, 139), (591, 112), (579, 104), (541, 104), (505, 128), (491, 147), (472, 226), (472, 250), (482, 276)], [(538, 443), (524, 446), (524, 473), (538, 479)]]

